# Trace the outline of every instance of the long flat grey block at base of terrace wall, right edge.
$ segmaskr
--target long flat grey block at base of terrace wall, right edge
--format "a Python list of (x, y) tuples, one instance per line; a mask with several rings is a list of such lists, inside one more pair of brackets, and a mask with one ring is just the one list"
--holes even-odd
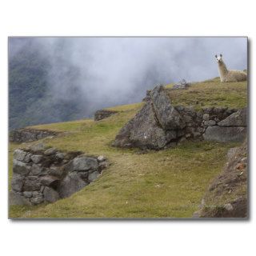
[(206, 141), (243, 142), (246, 138), (246, 127), (208, 126), (203, 138)]

